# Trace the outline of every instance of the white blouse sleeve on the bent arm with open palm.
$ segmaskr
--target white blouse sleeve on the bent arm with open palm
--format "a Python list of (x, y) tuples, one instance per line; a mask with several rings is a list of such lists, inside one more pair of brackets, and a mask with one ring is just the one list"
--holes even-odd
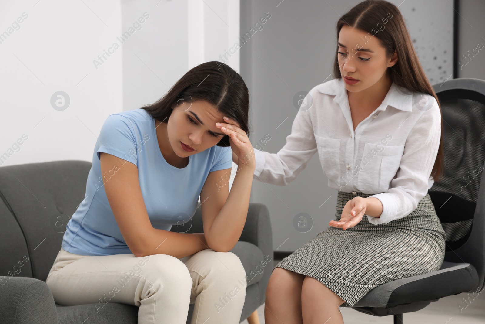
[(404, 143), (397, 176), (391, 180), (388, 191), (369, 196), (379, 199), (383, 206), (380, 217), (367, 215), (370, 223), (387, 224), (417, 208), (419, 201), (428, 193), (440, 137), (441, 112), (435, 100), (433, 107), (423, 111), (411, 129)]

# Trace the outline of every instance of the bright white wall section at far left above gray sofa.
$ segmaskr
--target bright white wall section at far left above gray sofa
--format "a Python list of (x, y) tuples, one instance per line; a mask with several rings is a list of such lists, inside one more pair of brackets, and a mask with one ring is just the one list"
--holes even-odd
[[(119, 1), (2, 1), (0, 21), (0, 165), (91, 161), (102, 123), (123, 107), (122, 51), (93, 64), (120, 33)], [(70, 100), (63, 111), (57, 91)]]

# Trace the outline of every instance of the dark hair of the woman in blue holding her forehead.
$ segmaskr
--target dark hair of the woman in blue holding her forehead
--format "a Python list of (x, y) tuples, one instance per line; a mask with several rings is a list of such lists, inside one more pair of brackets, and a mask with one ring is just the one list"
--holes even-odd
[[(241, 75), (218, 61), (191, 68), (161, 99), (140, 109), (145, 109), (154, 119), (166, 123), (173, 107), (198, 100), (214, 105), (217, 111), (235, 120), (249, 136), (247, 86)], [(223, 136), (216, 145), (229, 146), (229, 136)]]

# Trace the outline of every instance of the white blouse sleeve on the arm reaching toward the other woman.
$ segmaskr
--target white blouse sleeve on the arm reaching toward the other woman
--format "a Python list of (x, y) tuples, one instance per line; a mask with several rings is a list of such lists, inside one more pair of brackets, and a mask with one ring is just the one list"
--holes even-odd
[[(308, 95), (311, 96), (311, 92)], [(286, 186), (307, 167), (308, 161), (317, 152), (310, 116), (311, 109), (315, 108), (298, 110), (291, 126), (291, 134), (286, 137), (286, 144), (278, 153), (253, 148), (256, 159), (254, 179)]]

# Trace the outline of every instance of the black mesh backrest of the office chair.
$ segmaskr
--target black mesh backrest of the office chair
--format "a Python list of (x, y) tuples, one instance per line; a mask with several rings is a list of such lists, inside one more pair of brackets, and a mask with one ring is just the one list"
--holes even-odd
[(444, 172), (429, 194), (446, 232), (446, 251), (469, 238), (485, 159), (485, 96), (467, 89), (437, 93), (443, 117)]

